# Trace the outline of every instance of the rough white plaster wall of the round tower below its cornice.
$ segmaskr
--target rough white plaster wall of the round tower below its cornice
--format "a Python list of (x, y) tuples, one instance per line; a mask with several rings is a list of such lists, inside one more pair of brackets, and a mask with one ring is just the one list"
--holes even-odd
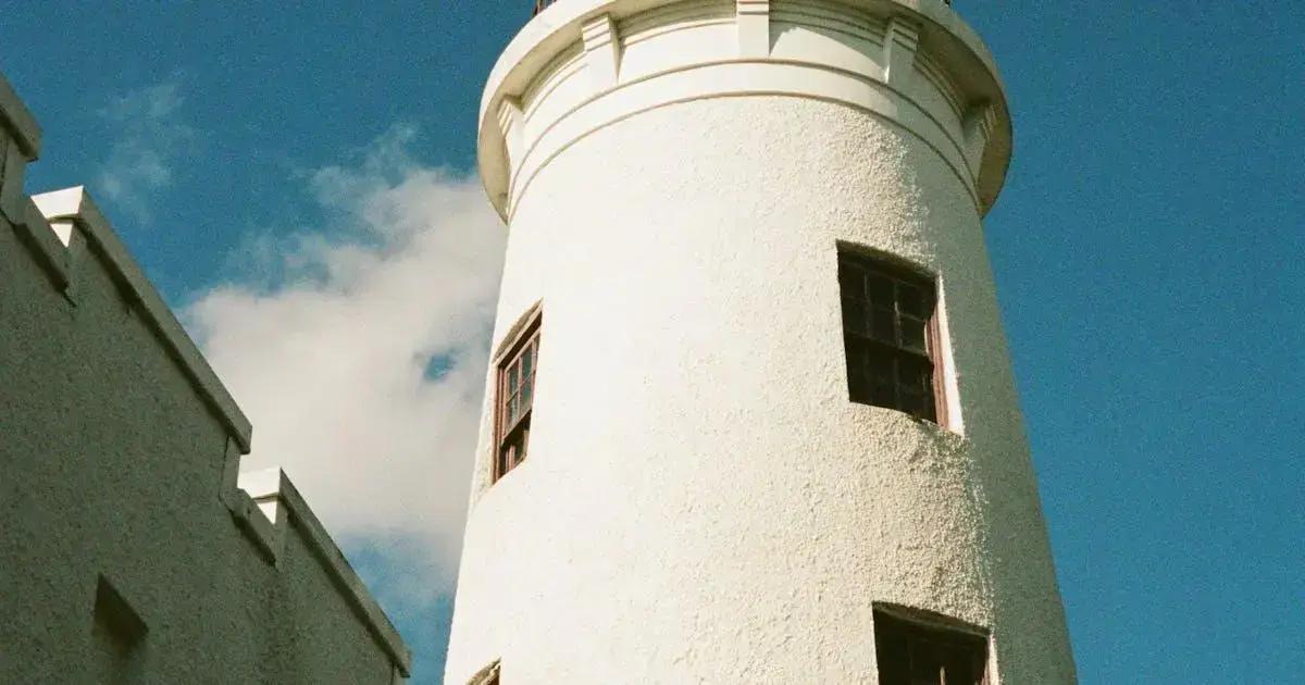
[[(446, 681), (874, 682), (893, 603), (989, 629), (994, 684), (1074, 682), (974, 179), (883, 111), (711, 87), (509, 200), (530, 457), (489, 485), (487, 412)], [(586, 107), (509, 121), (512, 168)], [(938, 275), (954, 431), (848, 402), (840, 241)]]

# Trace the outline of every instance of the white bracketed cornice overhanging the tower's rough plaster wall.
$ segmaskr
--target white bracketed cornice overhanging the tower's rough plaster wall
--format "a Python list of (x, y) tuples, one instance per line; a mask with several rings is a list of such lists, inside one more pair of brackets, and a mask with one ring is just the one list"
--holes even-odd
[[(942, 0), (846, 0), (838, 5), (818, 0), (733, 0), (729, 3), (732, 8), (726, 5), (724, 9), (733, 13), (737, 23), (737, 44), (728, 53), (685, 55), (676, 64), (666, 64), (652, 73), (626, 69), (621, 52), (626, 37), (619, 35), (617, 26), (626, 26), (639, 17), (664, 14), (654, 10), (672, 4), (675, 0), (559, 0), (527, 23), (506, 47), (489, 76), (482, 100), (479, 138), (482, 180), (505, 219), (510, 219), (517, 197), (529, 184), (532, 164), (573, 142), (544, 141), (549, 136), (557, 138), (559, 130), (570, 129), (573, 134), (582, 136), (655, 106), (748, 94), (843, 102), (890, 119), (938, 150), (958, 175), (964, 176), (963, 183), (974, 194), (980, 213), (987, 213), (996, 201), (1005, 183), (1011, 149), (1004, 86), (987, 47)], [(702, 0), (702, 4), (706, 8), (720, 3)], [(833, 10), (822, 12), (834, 12), (834, 17), (842, 7), (847, 8), (850, 17), (881, 22), (883, 34), (874, 39), (880, 44), (872, 50), (869, 40), (861, 40), (865, 59), (860, 64), (847, 64), (843, 57), (830, 53), (776, 52), (774, 42), (778, 37), (773, 35), (770, 22), (776, 21), (774, 17), (780, 9), (800, 4), (830, 5)], [(685, 30), (692, 27), (685, 23)], [(643, 38), (632, 35), (628, 44), (639, 40)], [(577, 43), (583, 52), (582, 70), (589, 72), (582, 76), (587, 76), (591, 90), (579, 93), (570, 89), (559, 95), (555, 74), (557, 57), (574, 51)], [(783, 65), (783, 69), (762, 73), (753, 68), (750, 76), (735, 85), (718, 87), (705, 69), (729, 72), (729, 63), (740, 67), (775, 64)], [(801, 80), (795, 80), (791, 73), (801, 68), (809, 70), (803, 78), (825, 85), (806, 87)], [(702, 78), (685, 87), (683, 74), (694, 69), (701, 70)], [(915, 78), (921, 70), (927, 78)], [(711, 78), (718, 76), (716, 72)], [(667, 81), (666, 87), (649, 85), (662, 77), (673, 80)], [(833, 84), (835, 77), (842, 78), (844, 85)], [(529, 95), (543, 87), (545, 81), (545, 95), (542, 97), (560, 99), (542, 107)], [(874, 91), (867, 91), (867, 85)], [(649, 94), (658, 87), (666, 91), (662, 102), (655, 102), (658, 97)], [(920, 94), (923, 87), (940, 91), (942, 98)], [(622, 110), (613, 104), (625, 95), (630, 95), (628, 107)], [(504, 102), (512, 102), (526, 115), (517, 117), (510, 127), (502, 125)], [(940, 108), (934, 102), (950, 102), (950, 110)], [(600, 121), (590, 110), (604, 110), (609, 116)], [(900, 111), (923, 116), (910, 114), (914, 119), (903, 121), (898, 115)], [(579, 116), (582, 112), (585, 116)], [(539, 117), (535, 117), (536, 114)]]

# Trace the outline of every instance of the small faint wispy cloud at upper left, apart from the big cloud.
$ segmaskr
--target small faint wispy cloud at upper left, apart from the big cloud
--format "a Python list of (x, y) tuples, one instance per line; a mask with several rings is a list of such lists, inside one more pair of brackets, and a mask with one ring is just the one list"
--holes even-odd
[(95, 190), (142, 221), (149, 219), (149, 194), (171, 185), (174, 166), (194, 145), (183, 102), (180, 86), (164, 82), (132, 90), (99, 111), (115, 138)]

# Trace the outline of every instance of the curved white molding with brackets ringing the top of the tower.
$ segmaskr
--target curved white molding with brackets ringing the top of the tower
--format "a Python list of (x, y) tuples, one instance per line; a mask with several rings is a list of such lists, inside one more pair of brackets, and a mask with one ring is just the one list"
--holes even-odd
[[(549, 12), (548, 21), (542, 17), (531, 21), (505, 48), (482, 99), (480, 176), (495, 209), (505, 221), (510, 219), (515, 201), (538, 167), (547, 164), (579, 137), (658, 106), (711, 97), (812, 97), (865, 108), (906, 128), (942, 154), (962, 176), (981, 215), (987, 214), (1005, 183), (1011, 132), (1004, 86), (983, 40), (945, 3), (570, 0), (553, 5)], [(793, 42), (771, 44), (767, 35), (766, 51), (761, 52), (757, 50), (761, 40), (756, 29), (762, 18), (767, 34), (778, 37), (788, 31), (790, 25), (809, 26), (825, 37), (823, 42), (840, 40), (852, 50), (822, 47), (822, 40), (810, 42), (810, 37), (803, 35), (795, 37)], [(754, 22), (752, 27), (745, 26), (749, 21)], [(731, 22), (735, 26), (728, 26)], [(723, 25), (724, 35), (703, 38), (709, 43), (690, 44), (688, 52), (683, 50), (685, 46), (669, 43), (666, 51), (649, 48), (639, 53), (637, 67), (632, 63), (630, 69), (625, 69), (621, 64), (634, 42), (711, 23)], [(581, 40), (577, 40), (577, 34)], [(733, 44), (729, 44), (731, 39)], [(780, 50), (776, 51), (776, 46)], [(565, 57), (568, 53), (576, 57)], [(656, 57), (650, 59), (650, 55)], [(766, 60), (765, 68), (758, 64), (760, 60)], [(683, 87), (683, 72), (714, 72), (731, 63), (750, 63), (750, 76), (720, 87), (701, 84), (696, 93), (686, 93)], [(809, 87), (790, 74), (769, 73), (773, 67), (787, 69), (793, 65), (821, 72), (814, 74), (821, 85)], [(599, 85), (564, 85), (573, 70), (574, 77), (579, 77), (581, 69), (589, 70)], [(830, 72), (851, 74), (863, 85), (834, 85)], [(954, 81), (959, 74), (966, 74), (963, 94)], [(649, 90), (642, 84), (662, 78), (675, 81), (669, 84), (673, 93), (664, 93), (659, 103), (650, 102), (655, 98), (642, 93)], [(769, 85), (776, 81), (778, 87)], [(636, 84), (639, 84), (638, 89), (625, 90)], [(941, 93), (941, 98), (933, 98), (927, 90)], [(621, 95), (617, 97), (617, 91)], [(612, 102), (625, 99), (626, 94), (633, 94), (637, 102)], [(500, 134), (499, 107), (506, 97), (519, 99), (529, 121), (519, 155), (509, 154), (509, 141)], [(555, 97), (557, 102), (544, 102)], [(993, 103), (997, 120), (977, 158), (962, 130), (966, 103), (975, 100)], [(906, 114), (899, 114), (899, 107), (904, 107)], [(577, 116), (578, 120), (572, 120)], [(916, 125), (923, 129), (914, 129)]]

